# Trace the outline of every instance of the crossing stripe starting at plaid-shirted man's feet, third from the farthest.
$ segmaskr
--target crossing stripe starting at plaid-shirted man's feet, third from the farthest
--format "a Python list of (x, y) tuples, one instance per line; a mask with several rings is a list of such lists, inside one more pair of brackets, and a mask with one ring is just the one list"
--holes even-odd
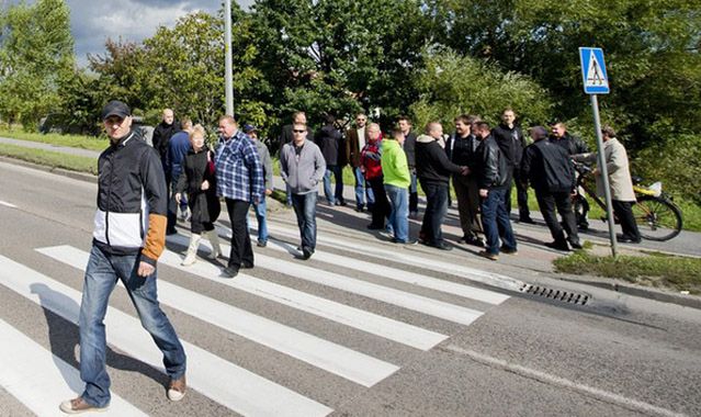
[[(227, 245), (222, 245), (222, 250), (226, 253), (229, 250), (229, 247)], [(412, 309), (415, 312), (459, 323), (461, 325), (470, 325), (484, 314), (476, 309), (462, 307), (455, 304), (445, 303), (388, 286), (377, 285), (369, 281), (357, 280), (321, 269), (306, 267), (299, 262), (290, 262), (261, 253), (257, 253), (256, 259), (256, 264), (258, 267), (262, 267), (271, 271), (362, 295), (369, 298), (378, 300), (387, 304), (397, 305), (399, 307)]]

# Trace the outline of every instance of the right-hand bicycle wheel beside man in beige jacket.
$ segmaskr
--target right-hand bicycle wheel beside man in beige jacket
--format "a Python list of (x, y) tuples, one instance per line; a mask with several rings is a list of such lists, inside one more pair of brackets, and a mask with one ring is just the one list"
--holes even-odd
[(681, 211), (665, 198), (642, 195), (632, 208), (644, 239), (665, 241), (681, 232)]

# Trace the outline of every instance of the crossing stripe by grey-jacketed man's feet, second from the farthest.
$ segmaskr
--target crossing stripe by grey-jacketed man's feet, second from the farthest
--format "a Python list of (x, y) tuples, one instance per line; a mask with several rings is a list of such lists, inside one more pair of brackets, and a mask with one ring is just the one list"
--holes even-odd
[[(279, 241), (279, 240), (270, 240), (273, 245), (269, 245), (270, 248), (289, 252), (294, 251), (294, 246)], [(444, 292), (448, 294), (460, 295), (465, 298), (480, 301), (487, 304), (501, 304), (505, 301), (509, 300), (508, 295), (500, 294), (489, 290), (477, 289), (474, 286), (463, 285), (451, 281), (439, 280), (436, 278), (425, 277), (418, 273), (404, 271), (396, 268), (385, 267), (383, 264), (373, 263), (363, 261), (357, 258), (343, 257), (336, 253), (325, 252), (323, 250), (317, 250), (314, 252), (314, 259), (320, 260), (323, 262), (332, 263), (338, 267), (354, 269), (357, 271), (372, 273), (375, 275), (381, 275), (384, 278), (388, 278), (391, 280), (406, 282), (409, 284), (422, 286), (430, 290), (436, 290), (440, 292)]]

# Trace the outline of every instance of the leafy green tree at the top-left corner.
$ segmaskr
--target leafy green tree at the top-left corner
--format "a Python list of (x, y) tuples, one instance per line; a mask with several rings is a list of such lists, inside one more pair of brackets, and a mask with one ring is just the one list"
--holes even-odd
[(63, 0), (0, 10), (0, 116), (36, 129), (59, 104), (59, 80), (75, 67), (70, 11)]

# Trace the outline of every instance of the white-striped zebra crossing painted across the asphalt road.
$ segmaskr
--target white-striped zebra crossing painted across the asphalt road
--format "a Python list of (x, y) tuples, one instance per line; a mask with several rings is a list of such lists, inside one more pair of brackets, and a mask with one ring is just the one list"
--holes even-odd
[[(508, 292), (485, 289), (479, 283), (498, 282), (506, 290), (519, 285), (517, 280), (508, 277), (453, 264), (446, 259), (432, 259), (431, 256), (417, 252), (400, 253), (381, 246), (324, 235), (319, 236), (320, 246), (313, 257), (314, 262), (295, 261), (296, 230), (282, 225), (274, 225), (271, 229), (279, 238), (271, 239), (268, 248), (256, 252), (256, 269), (241, 270), (233, 280), (221, 278), (221, 266), (204, 259), (191, 267), (180, 266), (188, 237), (169, 236), (169, 249), (159, 259), (159, 264), (165, 267), (159, 269), (159, 301), (204, 326), (236, 335), (264, 348), (260, 351), (261, 356), (274, 351), (306, 367), (295, 370), (313, 369), (317, 377), (328, 374), (333, 381), (344, 381), (343, 386), (357, 386), (358, 390), (372, 390), (374, 385), (400, 372), (406, 363), (403, 363), (403, 358), (378, 357), (381, 354), (376, 352), (364, 352), (354, 346), (328, 340), (328, 333), (351, 329), (364, 335), (363, 338), (368, 340), (420, 354), (450, 339), (454, 329), (470, 326), (489, 308), (509, 298)], [(347, 255), (326, 250), (325, 245), (341, 249)], [(228, 249), (223, 245), (225, 253)], [(76, 289), (82, 282), (89, 252), (70, 245), (39, 247), (34, 251), (46, 260), (46, 268), (33, 269), (0, 255), (0, 285), (78, 325), (81, 294)], [(392, 260), (391, 264), (383, 262), (383, 257)], [(61, 264), (72, 271), (72, 286), (52, 277), (52, 264)], [(412, 267), (434, 272), (417, 273), (409, 270)], [(248, 311), (212, 294), (199, 293), (180, 281), (171, 282), (171, 270), (178, 271), (181, 281), (207, 282), (222, 291), (227, 289), (314, 317), (317, 326), (328, 330), (316, 335), (314, 330), (303, 329), (304, 326), (279, 323), (263, 312)], [(446, 273), (464, 277), (465, 280), (459, 282), (446, 279)], [(270, 274), (280, 279), (268, 279)], [(320, 290), (315, 292), (310, 288)], [(351, 305), (319, 295), (321, 293), (350, 294), (350, 300), (360, 300), (362, 303)], [(111, 304), (105, 318), (108, 345), (165, 372), (160, 351), (142, 329), (138, 319)], [(384, 315), (377, 313), (380, 308), (373, 312), (373, 308), (365, 307), (368, 304), (392, 306), (398, 312), (406, 312), (409, 317), (427, 317), (428, 323), (449, 325), (431, 328), (423, 322), (405, 319), (405, 314)], [(179, 328), (177, 322), (173, 325), (176, 329)], [(60, 415), (58, 403), (82, 390), (79, 371), (14, 329), (2, 317), (0, 334), (3, 341), (8, 341), (0, 343), (0, 387), (36, 415)], [(190, 388), (226, 407), (231, 414), (326, 416), (338, 406), (328, 397), (317, 397), (313, 392), (297, 392), (299, 390), (289, 381), (260, 375), (231, 358), (210, 351), (199, 340), (181, 337), (181, 341), (189, 358)], [(41, 392), (41, 395), (36, 395), (36, 392)], [(110, 415), (139, 416), (148, 413), (129, 404), (127, 396), (113, 393)]]

